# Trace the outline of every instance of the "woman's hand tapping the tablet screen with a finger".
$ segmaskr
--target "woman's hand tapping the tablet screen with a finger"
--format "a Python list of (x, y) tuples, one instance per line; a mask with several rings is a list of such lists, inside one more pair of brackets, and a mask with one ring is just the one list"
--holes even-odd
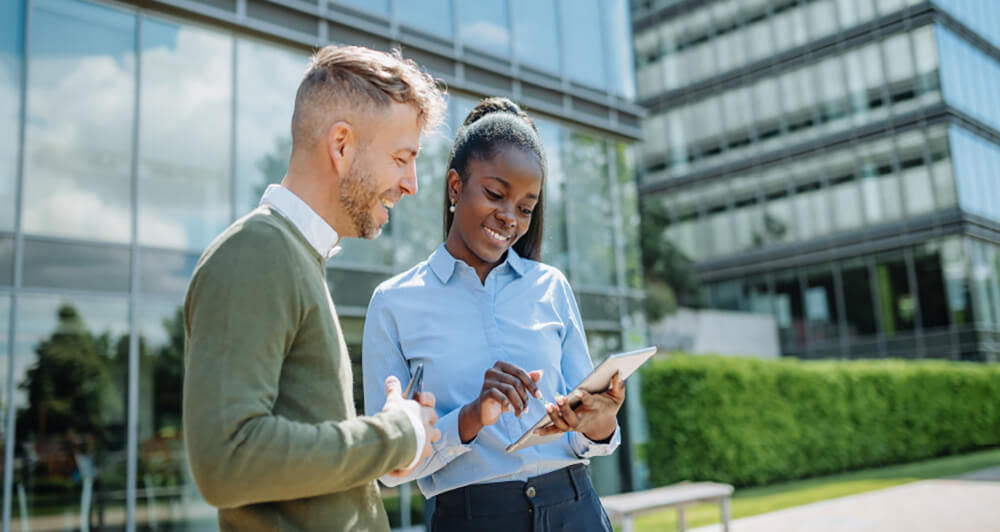
[(500, 419), (505, 410), (520, 416), (528, 407), (529, 395), (542, 398), (535, 384), (542, 370), (526, 372), (507, 362), (497, 362), (486, 370), (483, 387), (471, 403), (462, 407), (458, 416), (458, 433), (462, 443), (468, 443), (487, 425)]

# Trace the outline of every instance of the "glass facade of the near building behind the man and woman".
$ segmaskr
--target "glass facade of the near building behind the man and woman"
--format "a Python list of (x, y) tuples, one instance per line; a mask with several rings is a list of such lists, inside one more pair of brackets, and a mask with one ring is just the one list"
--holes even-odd
[[(449, 89), (420, 193), (328, 265), (358, 383), (372, 290), (442, 241), (451, 139), (490, 95), (537, 121), (544, 258), (573, 283), (592, 354), (645, 344), (625, 0), (0, 2), (4, 530), (216, 527), (183, 446), (184, 293), (282, 178), (295, 89), (327, 43), (401, 47)], [(595, 461), (599, 489), (633, 485), (633, 462), (630, 445)], [(415, 488), (383, 495), (393, 526), (422, 522)]]

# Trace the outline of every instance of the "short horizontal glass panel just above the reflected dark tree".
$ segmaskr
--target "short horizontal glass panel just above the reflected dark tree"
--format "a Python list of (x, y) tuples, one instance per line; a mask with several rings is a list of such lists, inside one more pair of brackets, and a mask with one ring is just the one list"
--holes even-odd
[(125, 246), (24, 239), (24, 286), (127, 292)]

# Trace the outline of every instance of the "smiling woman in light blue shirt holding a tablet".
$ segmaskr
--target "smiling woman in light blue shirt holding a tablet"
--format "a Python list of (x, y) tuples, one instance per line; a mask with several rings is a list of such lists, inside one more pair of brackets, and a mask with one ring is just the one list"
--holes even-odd
[[(616, 378), (607, 392), (582, 394), (575, 410), (562, 396), (593, 366), (569, 283), (538, 262), (538, 132), (510, 100), (485, 100), (459, 130), (448, 168), (444, 244), (382, 283), (368, 307), (365, 409), (382, 407), (387, 376), (407, 382), (422, 363), (442, 432), (415, 471), (384, 481), (419, 479), (424, 496), (437, 497), (435, 532), (610, 531), (586, 464), (617, 448), (625, 390)], [(505, 451), (545, 414), (545, 432), (565, 436)]]

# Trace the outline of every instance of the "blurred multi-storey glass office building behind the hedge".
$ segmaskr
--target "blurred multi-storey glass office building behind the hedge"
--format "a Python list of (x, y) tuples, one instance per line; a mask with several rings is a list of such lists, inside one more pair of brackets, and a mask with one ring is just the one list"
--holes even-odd
[(1000, 3), (637, 0), (643, 201), (784, 355), (1000, 355)]

